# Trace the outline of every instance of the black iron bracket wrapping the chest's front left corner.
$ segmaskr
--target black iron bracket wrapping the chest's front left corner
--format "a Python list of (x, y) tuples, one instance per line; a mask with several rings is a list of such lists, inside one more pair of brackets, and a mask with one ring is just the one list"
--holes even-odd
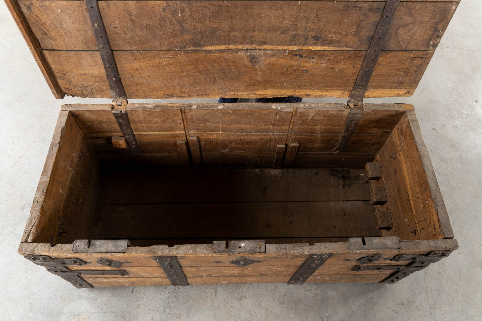
[(47, 271), (60, 276), (76, 288), (91, 288), (94, 286), (82, 278), (82, 275), (128, 275), (126, 270), (71, 270), (68, 265), (86, 265), (80, 258), (53, 258), (46, 255), (28, 254), (25, 258), (37, 265), (47, 268)]

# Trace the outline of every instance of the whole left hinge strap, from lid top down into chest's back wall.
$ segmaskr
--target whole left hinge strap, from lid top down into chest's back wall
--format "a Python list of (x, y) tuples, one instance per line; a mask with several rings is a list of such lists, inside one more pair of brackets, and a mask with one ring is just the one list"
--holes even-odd
[(104, 21), (102, 20), (102, 15), (100, 14), (99, 4), (97, 0), (84, 1), (87, 7), (87, 13), (89, 13), (92, 30), (94, 31), (95, 41), (97, 42), (97, 47), (99, 48), (100, 58), (102, 59), (104, 70), (106, 71), (107, 83), (109, 84), (110, 95), (113, 100), (112, 114), (119, 125), (120, 131), (129, 144), (129, 152), (142, 153), (142, 150), (139, 149), (137, 145), (137, 141), (129, 121), (129, 116), (127, 116), (127, 94), (125, 93), (124, 86), (122, 85), (122, 81), (120, 79), (119, 69), (117, 68), (114, 53), (110, 47), (106, 27), (104, 26)]

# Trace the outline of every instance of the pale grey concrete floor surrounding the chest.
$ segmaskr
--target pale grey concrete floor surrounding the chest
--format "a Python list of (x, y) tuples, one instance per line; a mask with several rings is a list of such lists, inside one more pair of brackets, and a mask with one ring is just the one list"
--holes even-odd
[(2, 2), (0, 320), (482, 320), (481, 15), (479, 0), (462, 0), (413, 97), (366, 100), (415, 105), (460, 246), (449, 258), (394, 285), (78, 290), (16, 251), (60, 105), (109, 100), (54, 99)]

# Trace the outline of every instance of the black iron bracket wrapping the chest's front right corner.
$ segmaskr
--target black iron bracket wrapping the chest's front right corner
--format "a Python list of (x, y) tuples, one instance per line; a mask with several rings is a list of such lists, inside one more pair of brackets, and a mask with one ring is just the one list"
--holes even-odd
[[(425, 269), (430, 263), (438, 262), (442, 258), (448, 257), (450, 253), (451, 251), (432, 251), (427, 254), (399, 254), (390, 259), (390, 261), (410, 261), (410, 263), (405, 265), (356, 265), (351, 270), (356, 272), (363, 270), (393, 270), (394, 272), (380, 281), (380, 283), (395, 283), (409, 276), (413, 272)], [(362, 264), (364, 264), (363, 262), (373, 262), (362, 260), (364, 258), (365, 257), (362, 257), (358, 261)]]

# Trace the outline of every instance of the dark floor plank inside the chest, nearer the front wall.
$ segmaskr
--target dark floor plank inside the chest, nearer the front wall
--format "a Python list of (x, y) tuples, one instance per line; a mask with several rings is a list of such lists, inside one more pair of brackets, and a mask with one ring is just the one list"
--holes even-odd
[(92, 237), (377, 236), (373, 211), (368, 201), (102, 205)]

